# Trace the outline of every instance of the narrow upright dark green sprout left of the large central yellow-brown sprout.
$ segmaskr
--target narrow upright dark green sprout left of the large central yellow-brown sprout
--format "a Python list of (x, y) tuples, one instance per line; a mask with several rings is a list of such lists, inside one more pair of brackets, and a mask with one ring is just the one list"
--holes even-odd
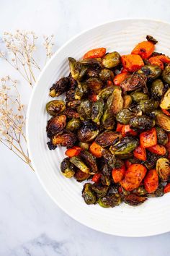
[(98, 125), (100, 124), (100, 119), (103, 114), (103, 109), (104, 109), (104, 101), (102, 100), (102, 98), (99, 98), (98, 101), (93, 103), (92, 110), (91, 110), (91, 120), (94, 121), (94, 123), (97, 123)]

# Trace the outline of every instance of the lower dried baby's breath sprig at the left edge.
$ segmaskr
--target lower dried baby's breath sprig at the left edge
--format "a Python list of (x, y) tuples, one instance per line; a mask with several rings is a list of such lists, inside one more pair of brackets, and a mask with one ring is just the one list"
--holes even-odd
[(1, 78), (0, 104), (0, 142), (32, 168), (24, 135), (25, 111), (17, 90), (17, 80)]

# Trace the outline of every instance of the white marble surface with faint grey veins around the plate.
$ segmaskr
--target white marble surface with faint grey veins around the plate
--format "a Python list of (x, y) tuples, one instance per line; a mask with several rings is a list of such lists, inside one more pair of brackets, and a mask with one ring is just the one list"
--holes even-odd
[[(169, 0), (6, 0), (0, 1), (0, 35), (27, 29), (54, 33), (59, 47), (81, 30), (125, 17), (170, 22)], [(0, 61), (0, 74), (16, 74)], [(25, 103), (31, 90), (21, 89)], [(46, 195), (35, 174), (0, 145), (1, 256), (167, 256), (170, 233), (122, 238), (93, 231), (66, 216)]]

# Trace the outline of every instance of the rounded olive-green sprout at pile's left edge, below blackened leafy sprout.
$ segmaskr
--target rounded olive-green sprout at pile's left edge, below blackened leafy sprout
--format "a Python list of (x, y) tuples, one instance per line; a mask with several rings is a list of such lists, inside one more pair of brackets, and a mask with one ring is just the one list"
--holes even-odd
[(66, 109), (66, 105), (63, 101), (50, 101), (46, 105), (46, 110), (50, 116), (56, 116)]

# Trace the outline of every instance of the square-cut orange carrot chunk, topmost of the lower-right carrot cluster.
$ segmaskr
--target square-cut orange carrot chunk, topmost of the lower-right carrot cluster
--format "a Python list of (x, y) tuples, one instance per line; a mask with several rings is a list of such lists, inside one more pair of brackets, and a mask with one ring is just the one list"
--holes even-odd
[(146, 132), (140, 133), (140, 145), (143, 148), (150, 148), (157, 144), (156, 128), (153, 127)]

